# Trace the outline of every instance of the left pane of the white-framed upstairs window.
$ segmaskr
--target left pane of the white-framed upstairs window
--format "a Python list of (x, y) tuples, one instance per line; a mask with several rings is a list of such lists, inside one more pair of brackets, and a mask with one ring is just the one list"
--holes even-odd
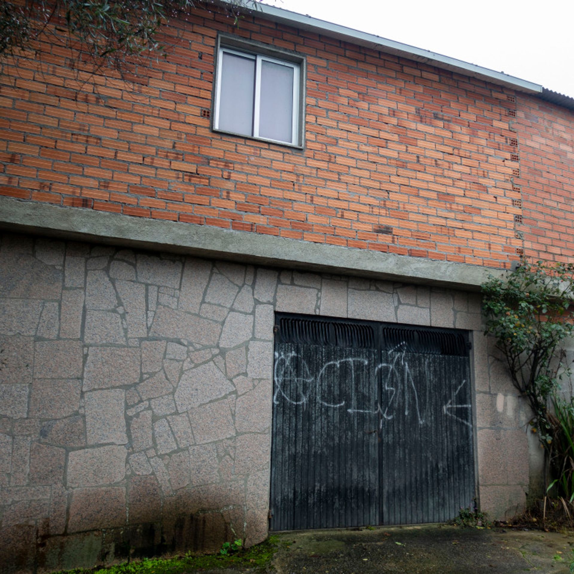
[(223, 52), (217, 127), (253, 135), (254, 93), (255, 60)]

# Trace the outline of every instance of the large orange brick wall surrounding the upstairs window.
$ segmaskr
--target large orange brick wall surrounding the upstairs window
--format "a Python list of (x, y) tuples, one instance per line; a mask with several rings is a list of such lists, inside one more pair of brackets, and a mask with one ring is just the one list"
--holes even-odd
[[(304, 150), (210, 130), (219, 30), (307, 57)], [(165, 34), (169, 57), (135, 65), (131, 84), (73, 71), (49, 42), (3, 61), (0, 193), (492, 267), (517, 258), (514, 92), (259, 17), (235, 27), (197, 9)]]

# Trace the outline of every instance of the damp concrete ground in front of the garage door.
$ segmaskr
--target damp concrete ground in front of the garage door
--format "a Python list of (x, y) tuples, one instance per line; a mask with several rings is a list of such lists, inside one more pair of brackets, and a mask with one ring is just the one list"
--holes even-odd
[(424, 525), (280, 534), (278, 574), (569, 574), (574, 534)]

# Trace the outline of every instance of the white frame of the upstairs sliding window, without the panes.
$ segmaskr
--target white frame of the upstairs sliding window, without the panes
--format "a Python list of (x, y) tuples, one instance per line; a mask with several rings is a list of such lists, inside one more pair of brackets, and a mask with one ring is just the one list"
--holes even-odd
[[(235, 56), (241, 56), (255, 61), (255, 90), (253, 102), (253, 134), (238, 134), (219, 127), (219, 99), (222, 86), (222, 73), (223, 73), (223, 55), (229, 53)], [(264, 61), (284, 65), (293, 70), (293, 114), (292, 114), (292, 130), (291, 141), (282, 141), (280, 139), (266, 138), (259, 135), (259, 111), (261, 107), (261, 68)], [(241, 135), (242, 137), (261, 139), (262, 141), (273, 142), (274, 144), (289, 145), (296, 148), (302, 147), (302, 118), (301, 118), (301, 63), (296, 61), (282, 60), (277, 57), (267, 56), (261, 53), (242, 51), (241, 49), (228, 48), (227, 46), (219, 46), (218, 59), (217, 59), (217, 73), (216, 73), (216, 87), (214, 99), (214, 121), (213, 129), (222, 131), (223, 133), (232, 133), (234, 135)]]

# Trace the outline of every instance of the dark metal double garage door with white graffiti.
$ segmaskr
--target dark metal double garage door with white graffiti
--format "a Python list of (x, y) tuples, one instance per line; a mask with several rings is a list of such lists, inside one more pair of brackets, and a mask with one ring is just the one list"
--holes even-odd
[(442, 522), (475, 497), (467, 333), (276, 315), (271, 528)]

